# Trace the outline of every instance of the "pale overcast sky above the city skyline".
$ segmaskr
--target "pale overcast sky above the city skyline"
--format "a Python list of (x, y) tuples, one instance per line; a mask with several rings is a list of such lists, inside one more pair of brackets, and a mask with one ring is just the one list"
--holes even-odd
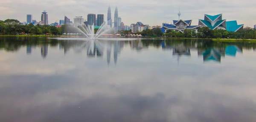
[(117, 6), (122, 22), (130, 26), (138, 21), (150, 26), (160, 26), (163, 22), (178, 20), (179, 11), (182, 20), (192, 20), (198, 25), (198, 19), (204, 14), (223, 14), (222, 18), (237, 20), (244, 27), (256, 24), (256, 0), (1, 0), (0, 20), (17, 19), (26, 21), (26, 14), (32, 14), (33, 20), (41, 20), (41, 12), (48, 12), (49, 23), (64, 20), (64, 15), (73, 21), (75, 16), (104, 14), (107, 19), (108, 6), (111, 6), (112, 18)]

